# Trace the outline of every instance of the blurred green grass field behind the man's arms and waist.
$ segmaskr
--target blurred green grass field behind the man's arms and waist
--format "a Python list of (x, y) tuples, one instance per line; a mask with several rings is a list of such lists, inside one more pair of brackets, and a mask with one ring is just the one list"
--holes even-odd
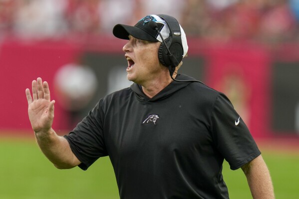
[[(299, 155), (263, 151), (277, 199), (299, 199)], [(109, 158), (101, 158), (87, 171), (58, 170), (43, 156), (33, 137), (0, 137), (0, 199), (119, 199)], [(241, 169), (224, 164), (224, 179), (231, 199), (251, 199)]]

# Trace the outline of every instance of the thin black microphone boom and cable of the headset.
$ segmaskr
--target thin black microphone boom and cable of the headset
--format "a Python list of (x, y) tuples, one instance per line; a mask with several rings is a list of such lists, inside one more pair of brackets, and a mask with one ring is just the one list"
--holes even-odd
[[(165, 20), (166, 21), (166, 20)], [(167, 22), (167, 21), (166, 21)], [(166, 47), (166, 49), (167, 49), (167, 52), (168, 52), (168, 57), (169, 57), (169, 59), (170, 59), (170, 61), (171, 61), (171, 65), (169, 65), (168, 66), (168, 70), (169, 70), (169, 74), (170, 74), (170, 77), (171, 77), (171, 79), (172, 80), (174, 80), (174, 81), (177, 81), (177, 82), (199, 82), (199, 83), (202, 83), (202, 84), (204, 84), (203, 82), (201, 82), (201, 81), (198, 81), (198, 80), (193, 80), (193, 79), (190, 79), (190, 80), (177, 80), (177, 79), (174, 79), (173, 77), (172, 77), (172, 75), (173, 75), (173, 73), (174, 73), (174, 71), (175, 71), (175, 67), (176, 66), (178, 66), (179, 65), (179, 62), (178, 62), (178, 60), (176, 59), (176, 57), (175, 56), (173, 56), (173, 54), (170, 52), (170, 50), (169, 50), (169, 48), (168, 48), (168, 46), (167, 46), (167, 44), (166, 44), (166, 42), (165, 42), (165, 40), (164, 40), (164, 38), (163, 38), (163, 36), (162, 36), (162, 34), (161, 34), (161, 32), (160, 32), (160, 30), (158, 29), (158, 25), (157, 25), (157, 23), (155, 22), (155, 21), (149, 21), (149, 24), (148, 24), (152, 29), (155, 29), (158, 33), (159, 33), (159, 35), (160, 35), (160, 37), (161, 37), (161, 39), (162, 39), (162, 41), (163, 41), (163, 43), (164, 43), (164, 46)]]

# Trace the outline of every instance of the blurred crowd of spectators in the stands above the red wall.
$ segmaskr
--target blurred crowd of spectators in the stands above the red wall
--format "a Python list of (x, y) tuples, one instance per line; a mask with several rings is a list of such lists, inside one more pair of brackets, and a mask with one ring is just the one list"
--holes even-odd
[(0, 35), (111, 34), (115, 24), (153, 13), (212, 41), (299, 41), (299, 0), (0, 0)]

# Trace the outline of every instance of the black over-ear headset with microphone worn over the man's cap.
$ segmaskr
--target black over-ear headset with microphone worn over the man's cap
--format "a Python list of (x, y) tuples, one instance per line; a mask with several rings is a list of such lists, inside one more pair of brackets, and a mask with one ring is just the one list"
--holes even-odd
[(165, 20), (169, 27), (169, 37), (164, 39), (162, 37), (162, 34), (160, 30), (158, 29), (158, 25), (155, 21), (150, 21), (149, 26), (153, 29), (155, 29), (161, 39), (162, 43), (160, 44), (159, 50), (158, 50), (158, 58), (159, 61), (166, 67), (168, 67), (170, 77), (174, 81), (178, 82), (200, 82), (198, 80), (176, 80), (172, 77), (175, 67), (179, 65), (179, 63), (183, 59), (184, 49), (182, 44), (182, 38), (181, 38), (181, 27), (179, 22), (176, 18), (166, 15), (166, 14), (157, 14), (161, 18)]

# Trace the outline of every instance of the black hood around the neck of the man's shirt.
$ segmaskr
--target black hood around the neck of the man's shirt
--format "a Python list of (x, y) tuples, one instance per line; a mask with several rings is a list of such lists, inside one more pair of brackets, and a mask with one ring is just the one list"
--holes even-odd
[[(184, 74), (177, 74), (176, 79), (177, 80), (194, 80), (194, 78), (189, 77), (188, 75), (184, 75)], [(186, 87), (190, 83), (192, 83), (192, 82), (172, 81), (168, 86), (166, 86), (163, 90), (161, 90), (157, 95), (155, 95), (152, 98), (149, 98), (148, 96), (146, 96), (143, 93), (142, 87), (139, 84), (133, 83), (131, 85), (131, 89), (133, 90), (133, 92), (135, 93), (135, 95), (136, 95), (136, 97), (138, 98), (139, 101), (154, 102), (154, 101), (158, 101), (158, 100), (162, 100), (164, 98), (167, 98), (168, 96), (172, 95), (176, 91)]]

